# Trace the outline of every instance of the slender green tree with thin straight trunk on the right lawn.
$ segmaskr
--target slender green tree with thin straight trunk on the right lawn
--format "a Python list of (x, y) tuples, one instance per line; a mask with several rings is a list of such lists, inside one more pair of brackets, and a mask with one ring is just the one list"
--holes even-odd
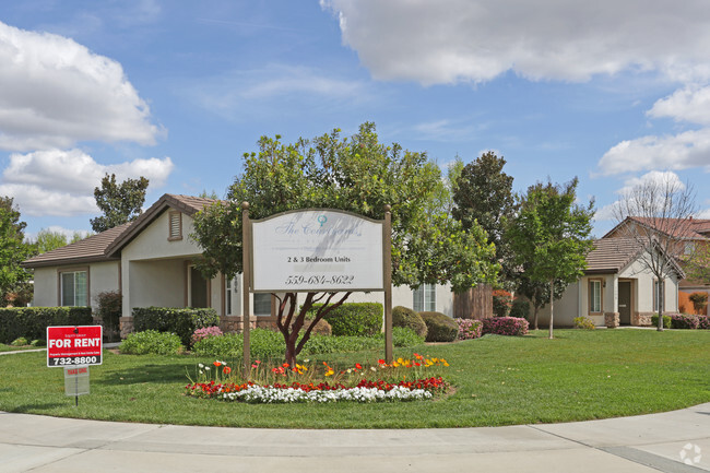
[(565, 287), (584, 274), (594, 202), (575, 203), (578, 179), (564, 186), (539, 182), (519, 197), (520, 210), (507, 237), (525, 277), (549, 287), (549, 338), (553, 335), (555, 284)]

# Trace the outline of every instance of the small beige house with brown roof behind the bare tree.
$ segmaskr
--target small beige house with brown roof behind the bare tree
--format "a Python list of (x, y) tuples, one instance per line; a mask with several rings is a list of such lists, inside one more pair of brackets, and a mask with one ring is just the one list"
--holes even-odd
[[(587, 257), (584, 275), (570, 284), (561, 299), (554, 304), (554, 323), (573, 326), (576, 317), (592, 319), (604, 326), (605, 317), (618, 316), (620, 324), (650, 326), (659, 307), (665, 312), (678, 311), (678, 283), (685, 276), (671, 258), (671, 276), (659, 282), (640, 261), (644, 251), (662, 251), (658, 246), (643, 248), (632, 238), (602, 238)], [(668, 256), (663, 257), (668, 258)], [(661, 284), (662, 296), (658, 297)], [(549, 306), (539, 312), (541, 324), (549, 323)]]

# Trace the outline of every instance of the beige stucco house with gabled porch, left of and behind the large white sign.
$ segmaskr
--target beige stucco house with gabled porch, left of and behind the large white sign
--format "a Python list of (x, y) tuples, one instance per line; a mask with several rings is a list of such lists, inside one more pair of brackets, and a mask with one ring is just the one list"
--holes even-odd
[[(34, 270), (35, 306), (92, 306), (102, 292), (122, 294), (121, 333), (132, 330), (135, 307), (213, 307), (222, 328), (241, 323), (241, 276), (205, 280), (194, 267), (202, 251), (190, 238), (196, 213), (212, 199), (164, 194), (135, 221), (26, 260)], [(273, 326), (275, 298), (252, 294), (251, 324)], [(348, 301), (383, 303), (382, 293), (356, 293)], [(393, 287), (392, 305), (452, 316), (450, 288)]]

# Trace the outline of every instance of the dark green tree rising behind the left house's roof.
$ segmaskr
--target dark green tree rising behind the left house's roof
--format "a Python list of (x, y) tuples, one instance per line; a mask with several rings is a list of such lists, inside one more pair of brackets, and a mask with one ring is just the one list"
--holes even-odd
[(144, 177), (126, 179), (118, 185), (115, 174), (110, 176), (106, 174), (100, 187), (94, 188), (96, 206), (104, 213), (102, 216), (91, 218), (94, 232), (105, 232), (138, 218), (145, 201), (147, 185), (149, 180)]

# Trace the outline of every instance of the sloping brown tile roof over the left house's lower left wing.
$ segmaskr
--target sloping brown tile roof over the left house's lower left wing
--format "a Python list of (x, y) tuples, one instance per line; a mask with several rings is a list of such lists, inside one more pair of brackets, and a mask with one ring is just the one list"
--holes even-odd
[(37, 255), (23, 261), (25, 268), (42, 268), (68, 263), (85, 263), (96, 261), (110, 261), (116, 258), (109, 258), (105, 251), (108, 245), (122, 234), (132, 222), (125, 223), (97, 235), (90, 236), (71, 245), (67, 245), (51, 251)]

